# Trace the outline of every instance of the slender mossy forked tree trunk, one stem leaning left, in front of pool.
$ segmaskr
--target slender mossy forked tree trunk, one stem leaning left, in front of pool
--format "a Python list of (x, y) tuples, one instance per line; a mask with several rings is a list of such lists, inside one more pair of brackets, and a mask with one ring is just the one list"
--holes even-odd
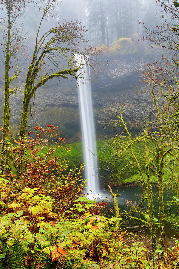
[[(154, 161), (152, 158), (149, 158), (149, 150), (148, 150), (148, 145), (147, 145), (148, 140), (151, 139), (151, 137), (148, 136), (148, 129), (146, 128), (143, 136), (138, 136), (138, 137), (135, 137), (134, 139), (132, 139), (131, 133), (128, 131), (126, 123), (124, 122), (123, 117), (122, 117), (123, 109), (120, 108), (120, 116), (118, 116), (118, 110), (114, 109), (112, 111), (114, 112), (114, 114), (112, 114), (112, 116), (115, 116), (117, 119), (114, 120), (114, 117), (113, 117), (113, 119), (111, 121), (109, 121), (109, 124), (112, 123), (112, 125), (118, 126), (118, 127), (120, 127), (120, 129), (124, 128), (124, 131), (122, 132), (122, 134), (117, 136), (117, 138), (116, 138), (116, 140), (119, 141), (118, 143), (119, 143), (120, 151), (119, 151), (119, 149), (118, 149), (118, 151), (120, 153), (123, 153), (123, 152), (126, 152), (127, 150), (129, 150), (130, 154), (132, 155), (132, 157), (134, 159), (134, 162), (129, 162), (126, 164), (126, 166), (124, 168), (120, 169), (119, 175), (121, 175), (121, 173), (124, 172), (127, 167), (133, 166), (133, 165), (137, 166), (137, 169), (138, 169), (139, 174), (140, 174), (140, 178), (138, 178), (138, 181), (143, 185), (143, 188), (146, 192), (146, 196), (143, 199), (143, 201), (145, 199), (147, 200), (148, 212), (149, 212), (148, 221), (143, 221), (143, 220), (142, 221), (145, 224), (148, 224), (150, 227), (152, 251), (154, 253), (156, 250), (157, 241), (156, 241), (155, 218), (154, 218), (154, 211), (153, 211), (152, 186), (151, 186), (151, 182), (150, 182), (150, 172), (149, 172), (150, 162), (152, 163), (152, 167), (153, 167)], [(126, 142), (126, 138), (128, 138), (127, 142)], [(145, 155), (140, 157), (140, 158), (137, 158), (137, 156), (133, 150), (133, 147), (135, 147), (135, 144), (139, 143), (140, 141), (145, 143)], [(140, 164), (141, 159), (144, 159), (145, 163), (146, 163), (146, 179), (143, 176), (142, 167)], [(111, 195), (112, 195), (112, 192), (111, 192)], [(115, 197), (113, 197), (113, 199), (115, 199)], [(135, 210), (136, 210), (136, 212), (138, 212), (137, 209), (135, 209)], [(118, 213), (118, 212), (116, 212), (116, 213)], [(141, 212), (138, 212), (138, 213), (141, 213)], [(134, 217), (132, 217), (132, 218), (134, 218)], [(138, 219), (138, 218), (135, 218), (135, 219)]]

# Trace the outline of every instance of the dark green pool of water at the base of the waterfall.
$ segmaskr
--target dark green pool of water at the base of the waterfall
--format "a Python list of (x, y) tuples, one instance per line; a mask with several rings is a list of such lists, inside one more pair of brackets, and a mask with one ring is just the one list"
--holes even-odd
[[(143, 191), (142, 187), (120, 187), (120, 188), (112, 188), (114, 193), (120, 194), (121, 196), (118, 197), (118, 205), (120, 208), (120, 213), (126, 211), (129, 212), (131, 210), (131, 206), (136, 206), (141, 203), (142, 197), (145, 195), (145, 192)], [(155, 218), (159, 219), (158, 217), (158, 188), (152, 188), (153, 192), (153, 204), (154, 204), (154, 212), (155, 212)], [(163, 200), (164, 200), (164, 213), (166, 214), (169, 209), (169, 201), (170, 197), (174, 196), (174, 193), (172, 191), (164, 189), (163, 191)], [(114, 215), (114, 202), (112, 200), (112, 197), (110, 196), (110, 192), (108, 189), (103, 189), (99, 192), (99, 195), (96, 195), (96, 197), (89, 195), (90, 199), (96, 199), (98, 201), (105, 200), (109, 202), (109, 205), (107, 209), (105, 210), (104, 214), (107, 216)], [(168, 205), (167, 205), (168, 202)], [(145, 210), (146, 202), (143, 203), (143, 209)], [(113, 209), (112, 211), (110, 209)], [(141, 207), (140, 207), (141, 209)], [(144, 212), (143, 210), (143, 212)], [(174, 206), (170, 209), (172, 213), (177, 213), (177, 210)], [(139, 210), (140, 211), (140, 210)], [(132, 216), (139, 217), (138, 214), (132, 213)], [(143, 218), (142, 215), (140, 215), (140, 218)], [(144, 218), (143, 218), (144, 219)], [(175, 230), (172, 228), (171, 224), (165, 220), (164, 222), (165, 226), (165, 232), (167, 238), (176, 237), (178, 238), (178, 233), (175, 232)], [(149, 228), (147, 226), (143, 226), (142, 222), (136, 221), (136, 220), (129, 220), (126, 223), (123, 224), (123, 227), (126, 228), (128, 231), (132, 232), (142, 232), (142, 233), (149, 233)], [(158, 231), (158, 236), (159, 231)]]

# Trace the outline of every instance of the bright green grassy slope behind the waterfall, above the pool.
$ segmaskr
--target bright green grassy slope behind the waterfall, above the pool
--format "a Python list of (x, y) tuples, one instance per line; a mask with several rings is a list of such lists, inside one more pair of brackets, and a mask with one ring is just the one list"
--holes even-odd
[[(110, 176), (112, 175), (112, 170), (114, 166), (114, 159), (115, 159), (115, 147), (112, 144), (111, 140), (98, 140), (97, 141), (97, 148), (98, 148), (98, 164), (99, 164), (99, 173), (101, 179), (103, 179), (106, 183), (109, 182)], [(83, 163), (83, 149), (82, 143), (72, 143), (67, 144), (65, 148), (51, 145), (52, 148), (55, 148), (55, 152), (53, 153), (54, 156), (58, 156), (60, 160), (68, 159), (67, 163), (69, 168), (72, 169), (74, 166), (79, 166)], [(153, 145), (149, 144), (149, 148), (152, 149)], [(44, 146), (42, 151), (39, 154), (45, 154), (49, 150), (49, 146)], [(135, 154), (138, 158), (140, 158), (143, 154), (143, 144), (136, 144), (135, 146)], [(118, 183), (126, 183), (131, 181), (137, 181), (139, 177), (138, 170), (135, 165), (129, 166), (125, 169), (125, 171), (118, 175), (118, 171), (123, 168), (129, 162), (133, 162), (133, 158), (129, 152), (124, 152), (117, 156), (116, 168), (114, 172), (114, 181), (113, 184)], [(145, 163), (141, 161), (141, 167), (144, 177), (146, 177), (145, 173)], [(151, 181), (157, 182), (157, 179), (151, 169)], [(170, 171), (169, 169), (164, 170), (163, 181), (164, 183), (168, 182), (170, 179)]]

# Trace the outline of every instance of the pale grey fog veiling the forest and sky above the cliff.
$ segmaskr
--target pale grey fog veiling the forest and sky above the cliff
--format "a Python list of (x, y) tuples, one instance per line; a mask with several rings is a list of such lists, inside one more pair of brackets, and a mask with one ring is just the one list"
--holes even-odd
[[(54, 1), (55, 2), (55, 1)], [(40, 1), (41, 3), (41, 1)], [(43, 5), (43, 1), (42, 1)], [(145, 26), (151, 29), (155, 24), (159, 23), (159, 16), (155, 14), (156, 3), (151, 0), (62, 0), (57, 1), (52, 14), (46, 16), (40, 27), (39, 36), (42, 36), (47, 30), (55, 27), (66, 20), (67, 22), (78, 20), (85, 27), (86, 32), (83, 33), (88, 44), (93, 47), (100, 48), (104, 46), (109, 48), (110, 45), (121, 38), (129, 38), (137, 40), (142, 38), (144, 31), (141, 27), (143, 22)], [(4, 24), (6, 13), (1, 7), (1, 54), (4, 58)], [(43, 12), (39, 10), (37, 5), (26, 2), (26, 6), (20, 16), (16, 19), (16, 29), (21, 28), (23, 46), (23, 60), (18, 59), (19, 66), (21, 61), (26, 64), (30, 62), (35, 46), (36, 33), (41, 21)], [(139, 24), (139, 21), (141, 24)], [(22, 55), (22, 51), (20, 52)], [(26, 59), (24, 59), (26, 58)], [(4, 59), (2, 59), (4, 62)], [(4, 64), (3, 64), (4, 65)], [(0, 77), (3, 79), (4, 70), (1, 65)], [(12, 62), (12, 65), (17, 65)], [(26, 73), (23, 65), (22, 73)], [(12, 73), (12, 69), (10, 72)]]

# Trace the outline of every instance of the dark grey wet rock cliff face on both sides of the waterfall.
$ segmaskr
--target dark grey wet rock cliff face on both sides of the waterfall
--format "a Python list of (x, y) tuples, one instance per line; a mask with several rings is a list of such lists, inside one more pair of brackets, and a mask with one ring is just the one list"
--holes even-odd
[[(96, 120), (102, 117), (101, 108), (119, 102), (128, 103), (124, 112), (125, 120), (139, 122), (146, 116), (146, 110), (151, 104), (147, 96), (141, 94), (141, 90), (137, 93), (135, 86), (132, 87), (132, 84), (139, 85), (140, 76), (137, 71), (144, 68), (146, 61), (147, 59), (137, 54), (135, 57), (133, 55), (113, 56), (109, 59), (109, 64), (95, 78), (96, 82), (91, 84)], [(0, 93), (0, 98), (3, 104), (3, 92)], [(22, 101), (22, 94), (19, 94), (17, 98), (10, 97), (11, 123), (17, 126), (20, 123)], [(36, 92), (32, 111), (33, 118), (30, 116), (28, 122), (30, 126), (45, 126), (51, 123), (58, 126), (67, 136), (72, 137), (79, 133), (78, 91), (75, 80), (62, 79), (60, 83), (54, 80), (40, 88)], [(96, 127), (97, 131), (102, 130), (99, 124)]]

